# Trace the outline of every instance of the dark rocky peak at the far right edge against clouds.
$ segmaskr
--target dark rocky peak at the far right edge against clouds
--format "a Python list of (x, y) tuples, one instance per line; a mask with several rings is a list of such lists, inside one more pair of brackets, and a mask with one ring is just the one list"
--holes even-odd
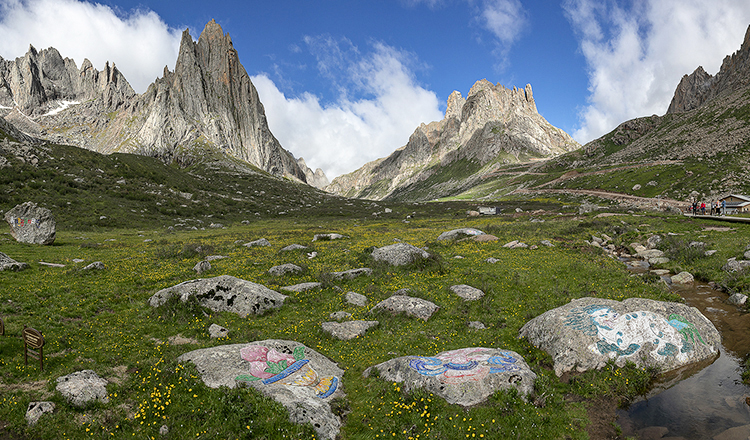
[(667, 113), (682, 113), (702, 106), (716, 97), (750, 86), (750, 26), (740, 49), (724, 58), (719, 72), (712, 76), (698, 67), (677, 85)]

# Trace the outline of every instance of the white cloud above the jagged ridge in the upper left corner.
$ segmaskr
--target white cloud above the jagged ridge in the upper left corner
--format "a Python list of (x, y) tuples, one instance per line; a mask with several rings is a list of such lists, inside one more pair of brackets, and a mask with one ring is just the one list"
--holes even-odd
[(0, 56), (23, 56), (31, 44), (54, 47), (79, 67), (84, 58), (100, 70), (114, 62), (139, 93), (164, 66), (174, 66), (180, 34), (148, 10), (118, 14), (81, 0), (0, 0)]

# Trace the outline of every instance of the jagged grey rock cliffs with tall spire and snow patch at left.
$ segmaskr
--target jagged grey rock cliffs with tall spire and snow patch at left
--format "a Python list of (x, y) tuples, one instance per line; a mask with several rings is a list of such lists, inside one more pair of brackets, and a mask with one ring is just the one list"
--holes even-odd
[(228, 34), (215, 21), (197, 42), (186, 30), (173, 72), (137, 95), (109, 64), (103, 72), (55, 49), (0, 62), (0, 116), (27, 134), (101, 153), (192, 163), (227, 155), (306, 181), (273, 136), (263, 104)]

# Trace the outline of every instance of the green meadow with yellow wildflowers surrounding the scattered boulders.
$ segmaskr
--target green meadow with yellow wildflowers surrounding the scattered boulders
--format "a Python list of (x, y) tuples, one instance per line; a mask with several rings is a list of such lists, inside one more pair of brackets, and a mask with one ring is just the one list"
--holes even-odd
[[(730, 279), (720, 267), (727, 258), (742, 255), (750, 234), (745, 225), (706, 231), (704, 226), (716, 223), (660, 214), (595, 218), (546, 211), (533, 218), (544, 222), (516, 214), (477, 219), (422, 216), (406, 223), (394, 214), (390, 219), (265, 220), (174, 232), (65, 230), (46, 247), (19, 244), (2, 235), (0, 251), (31, 268), (0, 273), (0, 316), (6, 325), (6, 335), (0, 338), (0, 421), (5, 424), (0, 424), (0, 433), (5, 429), (7, 438), (42, 439), (316, 438), (310, 426), (291, 424), (280, 404), (251, 389), (209, 389), (191, 364), (175, 361), (197, 348), (276, 338), (301, 342), (345, 370), (347, 398), (333, 402), (334, 411), (344, 418), (341, 439), (595, 438), (590, 422), (596, 406), (603, 401), (626, 403), (646, 390), (656, 372), (612, 366), (561, 380), (552, 372), (549, 356), (519, 339), (518, 330), (573, 298), (680, 298), (658, 277), (632, 276), (622, 263), (585, 240), (606, 233), (627, 246), (652, 233), (685, 234), (678, 239), (701, 240), (719, 252), (696, 256), (681, 252), (684, 246), (672, 240), (675, 259), (667, 268), (692, 270), (704, 279), (744, 290), (744, 275)], [(499, 241), (435, 241), (441, 232), (459, 227), (479, 228)], [(314, 234), (326, 232), (347, 238), (312, 242)], [(242, 246), (263, 237), (271, 247)], [(516, 239), (529, 245), (550, 240), (555, 246), (502, 247)], [(372, 247), (396, 240), (426, 246), (435, 258), (407, 268), (375, 264), (369, 256)], [(292, 243), (309, 249), (279, 252)], [(312, 251), (317, 256), (310, 259), (307, 253)], [(213, 261), (204, 278), (226, 274), (272, 289), (307, 281), (321, 281), (323, 287), (291, 293), (281, 309), (245, 319), (196, 304), (148, 306), (157, 290), (197, 278), (193, 266), (209, 255), (228, 258)], [(487, 263), (489, 257), (500, 261)], [(74, 263), (77, 258), (85, 262)], [(40, 261), (65, 267), (47, 267)], [(93, 261), (104, 262), (106, 269), (81, 270)], [(268, 274), (270, 267), (283, 263), (295, 263), (304, 271), (279, 278)], [(334, 281), (329, 275), (358, 267), (373, 268), (373, 276)], [(454, 284), (469, 284), (486, 295), (464, 302), (449, 291)], [(440, 310), (427, 322), (370, 314), (375, 304), (402, 288), (438, 304)], [(366, 295), (368, 306), (348, 305), (348, 291)], [(380, 325), (357, 339), (333, 339), (320, 324), (340, 310), (352, 313), (352, 319), (375, 319)], [(469, 321), (481, 321), (487, 329), (470, 329)], [(229, 336), (210, 339), (212, 323), (229, 329)], [(44, 334), (44, 371), (36, 362), (24, 366), (24, 325)], [(393, 357), (473, 346), (523, 355), (538, 375), (534, 395), (524, 401), (514, 393), (498, 392), (485, 404), (464, 409), (429, 393), (406, 393), (399, 384), (362, 377), (367, 367)], [(109, 380), (109, 403), (77, 409), (55, 392), (57, 377), (83, 369)], [(57, 411), (27, 427), (26, 407), (38, 400), (55, 402)], [(163, 425), (169, 428), (166, 436), (159, 434)]]

